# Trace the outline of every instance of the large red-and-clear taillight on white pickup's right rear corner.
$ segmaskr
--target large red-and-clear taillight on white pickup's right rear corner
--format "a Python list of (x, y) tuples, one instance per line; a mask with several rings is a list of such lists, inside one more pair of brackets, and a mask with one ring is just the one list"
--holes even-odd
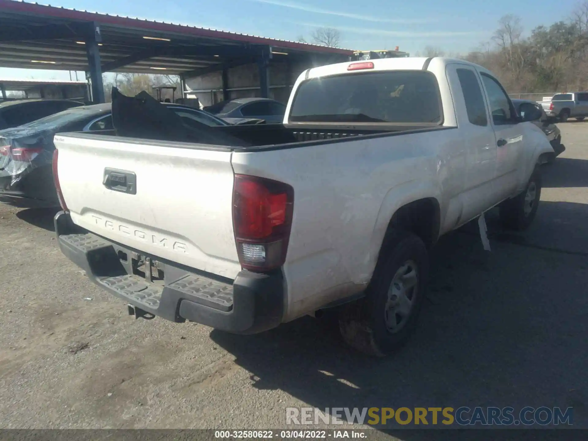
[(283, 265), (293, 204), (294, 190), (288, 184), (235, 175), (233, 226), (243, 268), (270, 270)]

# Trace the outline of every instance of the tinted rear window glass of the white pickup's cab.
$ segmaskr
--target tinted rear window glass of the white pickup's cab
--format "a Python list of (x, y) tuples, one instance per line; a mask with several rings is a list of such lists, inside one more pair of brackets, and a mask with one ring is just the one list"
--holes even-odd
[(443, 115), (433, 74), (385, 71), (303, 82), (289, 121), (439, 124)]

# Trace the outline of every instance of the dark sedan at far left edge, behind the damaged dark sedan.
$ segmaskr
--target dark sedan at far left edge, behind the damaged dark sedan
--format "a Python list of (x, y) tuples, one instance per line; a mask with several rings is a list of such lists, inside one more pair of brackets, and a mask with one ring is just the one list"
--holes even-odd
[(83, 106), (67, 99), (18, 99), (0, 103), (0, 130), (20, 126), (36, 119)]

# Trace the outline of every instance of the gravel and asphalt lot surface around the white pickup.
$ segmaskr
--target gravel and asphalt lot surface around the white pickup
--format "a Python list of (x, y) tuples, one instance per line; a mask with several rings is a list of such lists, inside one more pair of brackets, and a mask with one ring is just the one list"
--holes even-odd
[(135, 320), (61, 254), (55, 211), (0, 206), (0, 427), (267, 429), (289, 406), (573, 406), (588, 427), (588, 121), (560, 128), (532, 228), (490, 216), (490, 253), (475, 225), (443, 238), (416, 335), (381, 360), (312, 318)]

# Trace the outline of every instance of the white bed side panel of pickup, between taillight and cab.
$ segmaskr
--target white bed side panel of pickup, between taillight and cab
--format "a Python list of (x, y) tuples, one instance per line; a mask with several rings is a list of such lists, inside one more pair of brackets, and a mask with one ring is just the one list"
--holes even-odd
[(295, 189), (283, 268), (285, 319), (365, 289), (390, 218), (403, 203), (438, 198), (443, 189), (443, 219), (446, 207), (459, 203), (460, 145), (459, 131), (447, 129), (233, 153), (235, 173), (276, 179)]

